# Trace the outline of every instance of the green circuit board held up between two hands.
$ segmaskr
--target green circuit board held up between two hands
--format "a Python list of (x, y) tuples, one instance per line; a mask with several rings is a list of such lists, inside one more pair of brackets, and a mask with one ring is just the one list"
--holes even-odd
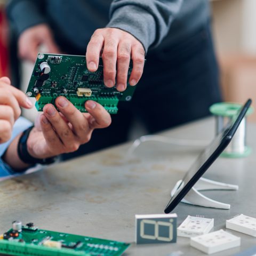
[[(132, 65), (129, 67), (128, 79)], [(119, 92), (116, 87), (107, 88), (103, 83), (103, 62), (91, 72), (86, 67), (85, 56), (38, 53), (31, 75), (27, 96), (36, 98), (36, 108), (42, 111), (47, 103), (55, 106), (55, 99), (66, 97), (81, 112), (86, 112), (84, 103), (94, 100), (100, 103), (110, 114), (116, 114), (119, 101), (130, 101), (135, 86)]]

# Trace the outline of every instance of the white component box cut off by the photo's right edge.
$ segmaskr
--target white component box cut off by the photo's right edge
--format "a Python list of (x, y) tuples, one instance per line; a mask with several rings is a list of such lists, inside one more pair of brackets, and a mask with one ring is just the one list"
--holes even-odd
[(226, 228), (256, 237), (256, 219), (244, 214), (226, 220)]

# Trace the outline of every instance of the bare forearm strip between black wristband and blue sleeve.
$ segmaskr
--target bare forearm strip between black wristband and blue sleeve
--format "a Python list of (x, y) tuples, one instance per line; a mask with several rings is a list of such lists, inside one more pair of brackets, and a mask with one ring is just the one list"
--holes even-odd
[(8, 164), (14, 170), (23, 170), (29, 167), (29, 164), (26, 164), (21, 161), (18, 155), (18, 142), (21, 134), (19, 134), (6, 149), (5, 154), (3, 155), (3, 161)]

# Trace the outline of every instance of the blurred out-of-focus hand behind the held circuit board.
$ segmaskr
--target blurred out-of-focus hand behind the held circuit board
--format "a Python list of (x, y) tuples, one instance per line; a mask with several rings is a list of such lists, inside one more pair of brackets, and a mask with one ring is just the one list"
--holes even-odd
[(18, 51), (21, 59), (35, 62), (38, 54), (38, 47), (45, 45), (47, 52), (60, 53), (57, 44), (54, 42), (52, 31), (45, 24), (37, 25), (26, 29), (19, 37)]

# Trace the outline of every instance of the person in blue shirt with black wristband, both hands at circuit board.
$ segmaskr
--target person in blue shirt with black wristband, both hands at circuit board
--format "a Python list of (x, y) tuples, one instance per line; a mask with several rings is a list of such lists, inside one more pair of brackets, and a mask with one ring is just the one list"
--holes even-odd
[(65, 97), (43, 109), (35, 126), (20, 117), (21, 109), (31, 108), (26, 95), (11, 86), (10, 79), (0, 78), (0, 178), (22, 173), (29, 167), (54, 162), (54, 157), (76, 151), (90, 141), (94, 129), (110, 125), (107, 111), (92, 100), (88, 113), (81, 113)]

